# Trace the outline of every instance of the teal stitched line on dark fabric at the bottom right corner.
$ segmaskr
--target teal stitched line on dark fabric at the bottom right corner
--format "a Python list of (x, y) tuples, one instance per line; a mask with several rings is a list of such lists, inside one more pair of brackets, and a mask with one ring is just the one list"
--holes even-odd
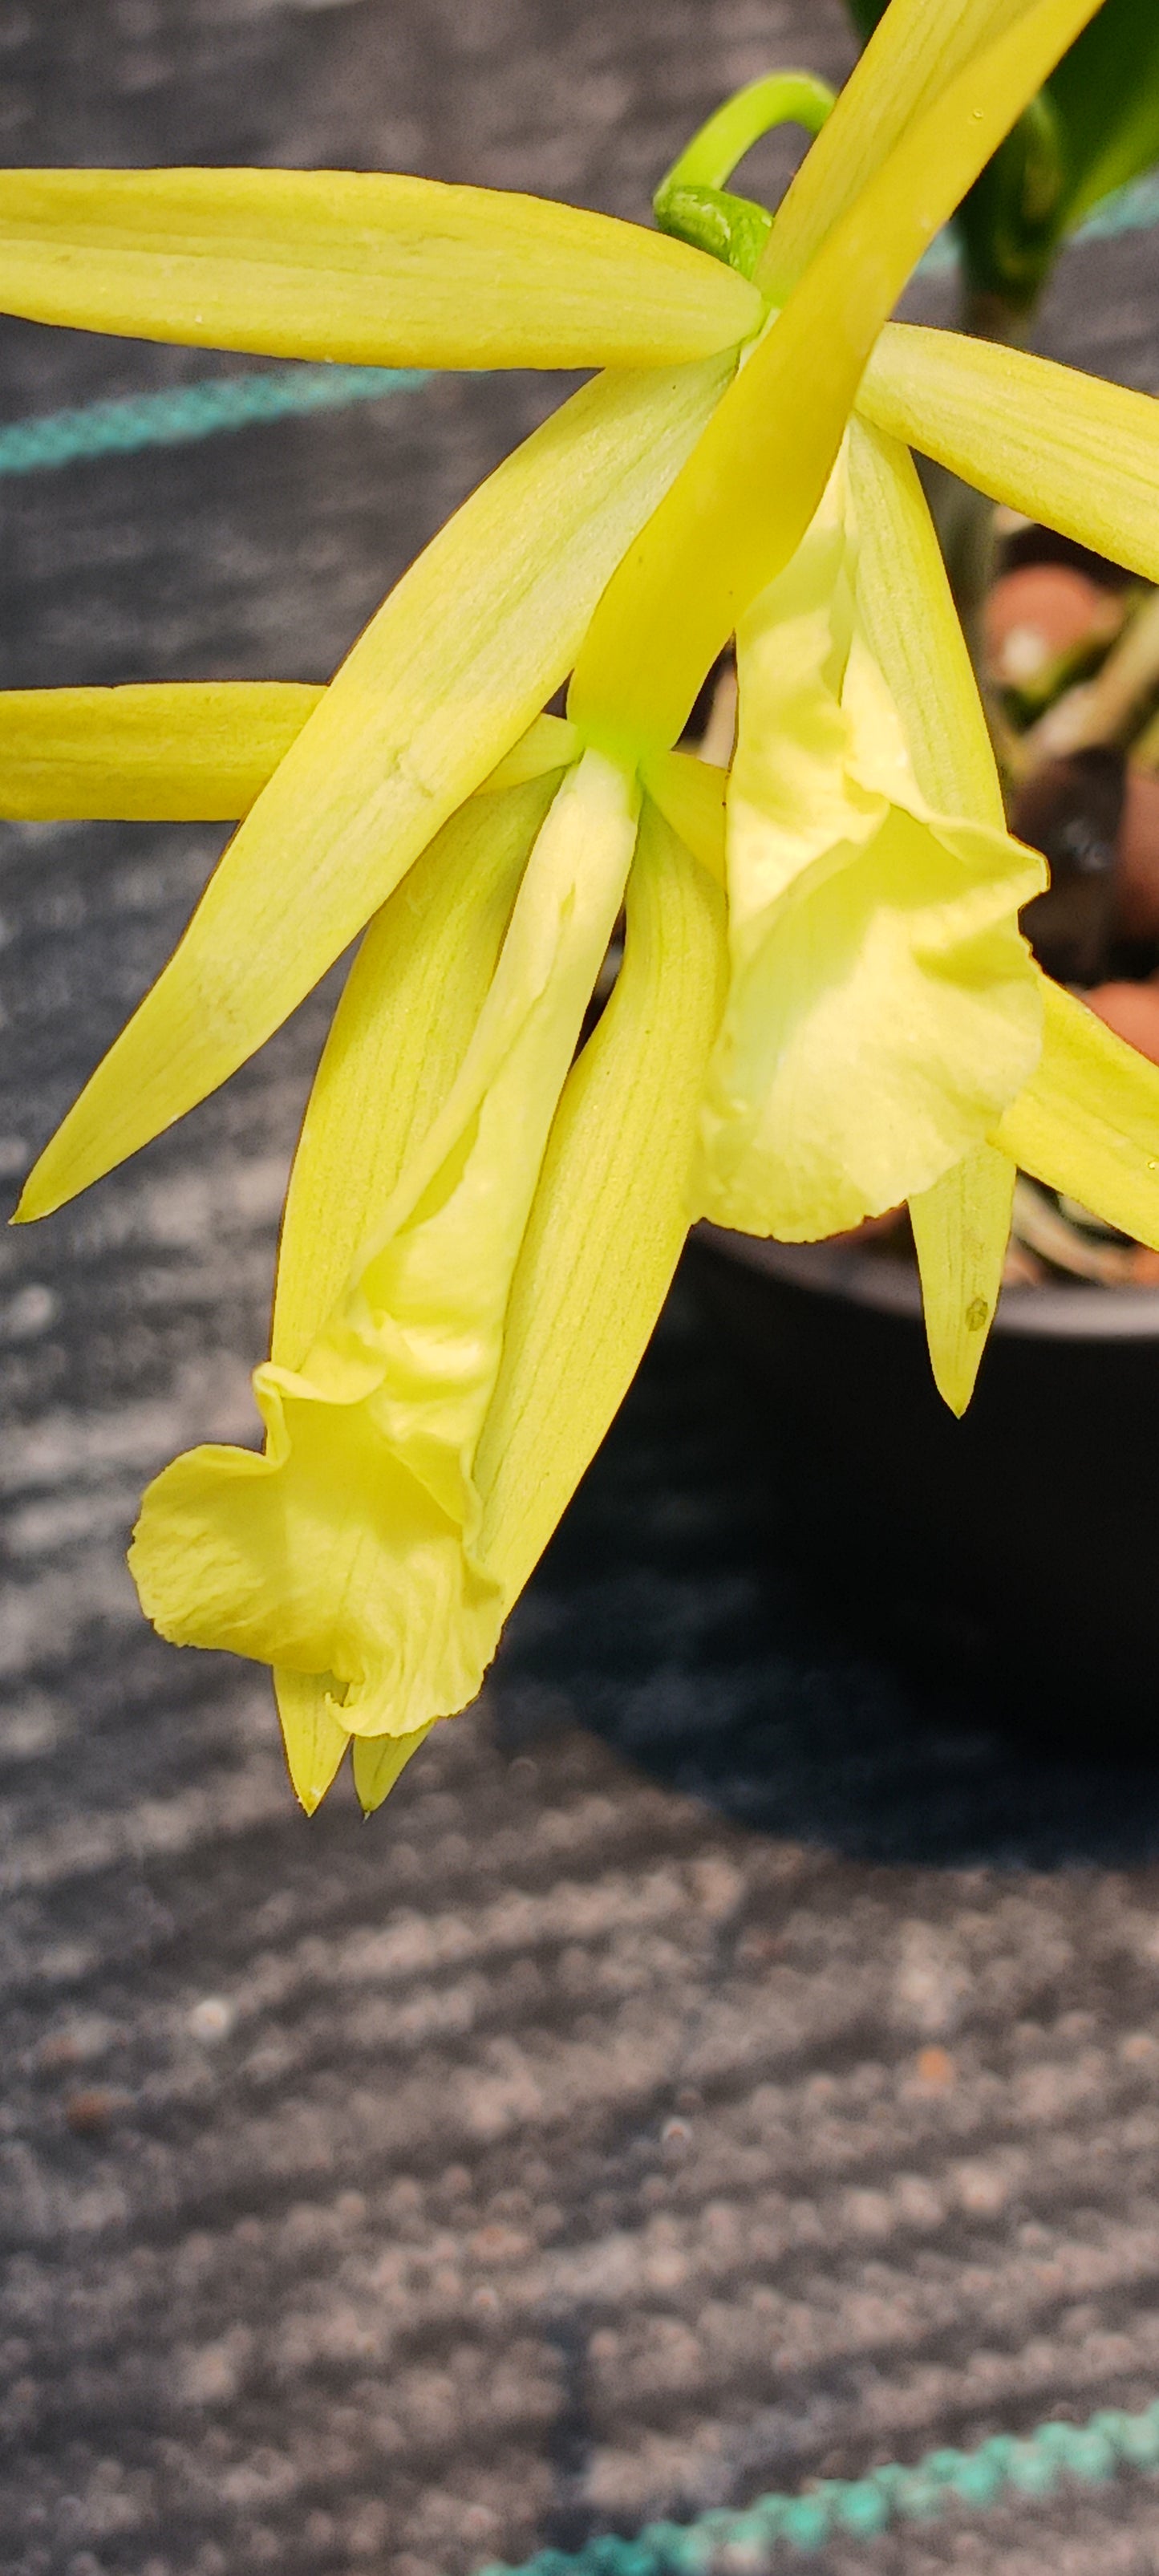
[(804, 2496), (757, 2496), (744, 2512), (698, 2522), (649, 2522), (636, 2540), (587, 2540), (538, 2550), (520, 2568), (500, 2561), (479, 2576), (765, 2576), (783, 2553), (827, 2540), (876, 2540), (896, 2522), (935, 2522), (943, 2506), (986, 2512), (1004, 2499), (1046, 2501), (1066, 2478), (1105, 2486), (1123, 2468), (1159, 2473), (1159, 2403), (1128, 2416), (1102, 2409), (1089, 2424), (1038, 2424), (1025, 2439), (999, 2432), (979, 2450), (930, 2450), (917, 2468), (871, 2468), (865, 2478), (819, 2478)]

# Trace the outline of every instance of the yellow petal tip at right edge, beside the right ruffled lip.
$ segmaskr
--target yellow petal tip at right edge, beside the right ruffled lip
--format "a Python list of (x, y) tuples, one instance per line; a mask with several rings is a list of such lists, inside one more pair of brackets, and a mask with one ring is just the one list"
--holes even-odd
[(1043, 1056), (994, 1144), (1022, 1172), (1159, 1249), (1159, 1066), (1048, 976), (1043, 992)]

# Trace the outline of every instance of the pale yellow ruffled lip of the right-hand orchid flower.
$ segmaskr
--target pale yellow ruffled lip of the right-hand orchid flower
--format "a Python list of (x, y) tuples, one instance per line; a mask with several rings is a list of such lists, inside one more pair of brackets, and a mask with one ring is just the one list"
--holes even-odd
[(742, 621), (737, 670), (731, 989), (698, 1203), (809, 1242), (927, 1190), (1030, 1074), (1041, 997), (1017, 907), (1046, 868), (922, 796), (858, 618), (842, 471)]

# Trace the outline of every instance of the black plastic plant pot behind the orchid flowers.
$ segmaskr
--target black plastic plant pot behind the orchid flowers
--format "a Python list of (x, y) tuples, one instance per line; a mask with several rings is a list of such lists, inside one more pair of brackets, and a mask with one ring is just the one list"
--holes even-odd
[(834, 1613), (1159, 1731), (1159, 1291), (1007, 1288), (956, 1422), (904, 1260), (716, 1226), (688, 1260)]

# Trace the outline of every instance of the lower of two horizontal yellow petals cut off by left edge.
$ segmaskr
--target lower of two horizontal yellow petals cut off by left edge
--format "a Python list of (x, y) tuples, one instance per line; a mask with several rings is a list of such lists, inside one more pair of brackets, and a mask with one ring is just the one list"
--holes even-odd
[(0, 690), (0, 817), (237, 822), (319, 698), (296, 680)]

